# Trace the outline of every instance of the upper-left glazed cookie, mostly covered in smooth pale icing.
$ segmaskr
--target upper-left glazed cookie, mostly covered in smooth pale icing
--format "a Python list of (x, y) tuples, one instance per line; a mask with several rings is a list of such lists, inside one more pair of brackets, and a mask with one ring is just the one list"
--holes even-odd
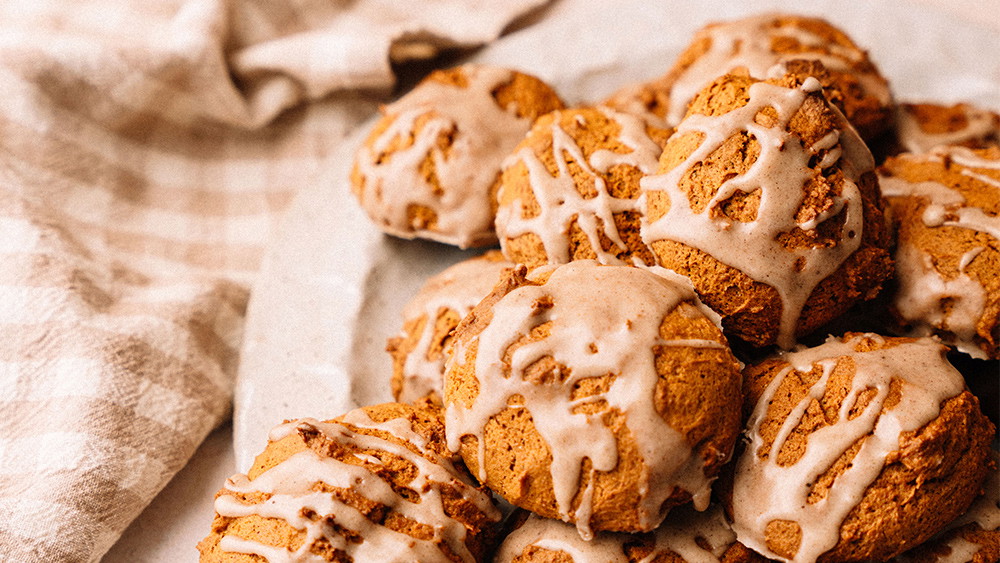
[(355, 157), (354, 194), (389, 234), (494, 244), (501, 162), (536, 117), (562, 106), (548, 85), (513, 70), (435, 71), (382, 108)]

